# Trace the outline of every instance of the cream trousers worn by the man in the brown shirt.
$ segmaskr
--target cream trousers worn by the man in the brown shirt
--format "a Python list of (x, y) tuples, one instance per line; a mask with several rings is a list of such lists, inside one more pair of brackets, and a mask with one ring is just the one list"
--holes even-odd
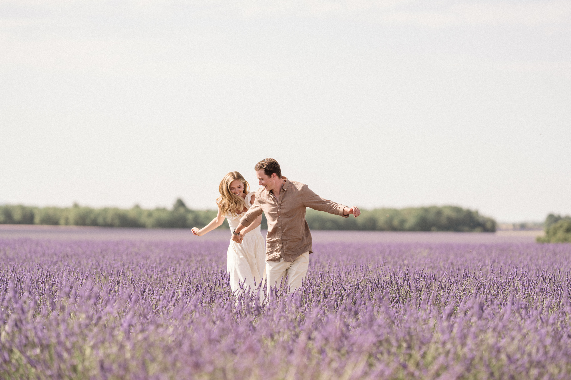
[[(305, 278), (307, 274), (307, 268), (309, 266), (309, 251), (304, 254), (300, 254), (295, 260), (289, 262), (284, 261), (280, 258), (280, 261), (266, 261), (266, 281), (267, 281), (267, 292), (268, 296), (270, 294), (271, 286), (280, 286), (283, 281), (286, 280), (286, 274), (288, 275), (289, 284), (288, 293), (293, 292), (293, 290), (301, 286), (301, 281)], [(286, 285), (286, 284), (284, 284)]]

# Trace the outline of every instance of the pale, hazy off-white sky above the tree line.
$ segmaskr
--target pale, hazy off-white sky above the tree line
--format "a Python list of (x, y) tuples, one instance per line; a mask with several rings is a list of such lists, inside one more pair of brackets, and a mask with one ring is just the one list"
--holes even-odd
[(2, 1), (0, 204), (571, 213), (570, 1)]

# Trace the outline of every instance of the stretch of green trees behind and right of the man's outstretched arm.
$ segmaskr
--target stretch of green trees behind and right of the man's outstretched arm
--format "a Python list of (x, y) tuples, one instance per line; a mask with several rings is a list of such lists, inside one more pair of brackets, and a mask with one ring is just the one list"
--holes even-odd
[(457, 231), (494, 232), (496, 221), (477, 211), (455, 206), (380, 208), (362, 210), (361, 216), (342, 218), (307, 209), (305, 219), (311, 229), (360, 231)]

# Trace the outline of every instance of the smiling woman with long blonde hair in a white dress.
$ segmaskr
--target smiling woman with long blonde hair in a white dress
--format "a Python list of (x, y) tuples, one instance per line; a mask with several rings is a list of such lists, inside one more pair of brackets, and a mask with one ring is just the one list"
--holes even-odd
[[(234, 231), (240, 223), (240, 217), (254, 203), (256, 195), (255, 192), (249, 192), (248, 183), (239, 172), (230, 172), (224, 176), (218, 191), (218, 215), (206, 227), (192, 228), (194, 235), (202, 236), (220, 227), (224, 218), (228, 219), (230, 229)], [(260, 232), (260, 223), (261, 215), (245, 230), (242, 244), (230, 241), (228, 246), (227, 268), (230, 272), (230, 288), (234, 293), (239, 293), (240, 284), (243, 284), (244, 289), (253, 290), (266, 278), (266, 246)]]

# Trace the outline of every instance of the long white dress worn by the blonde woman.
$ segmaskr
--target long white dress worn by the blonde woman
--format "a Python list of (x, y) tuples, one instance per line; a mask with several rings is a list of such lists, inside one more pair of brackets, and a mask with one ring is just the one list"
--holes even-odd
[[(246, 207), (250, 208), (251, 192), (246, 195)], [(244, 216), (244, 211), (240, 215), (226, 215), (230, 229), (235, 229), (240, 224), (240, 218)], [(228, 272), (230, 273), (230, 288), (232, 292), (240, 289), (243, 284), (244, 289), (248, 287), (253, 290), (258, 288), (260, 282), (266, 279), (266, 242), (260, 231), (260, 226), (244, 235), (242, 244), (230, 241), (228, 246)]]

